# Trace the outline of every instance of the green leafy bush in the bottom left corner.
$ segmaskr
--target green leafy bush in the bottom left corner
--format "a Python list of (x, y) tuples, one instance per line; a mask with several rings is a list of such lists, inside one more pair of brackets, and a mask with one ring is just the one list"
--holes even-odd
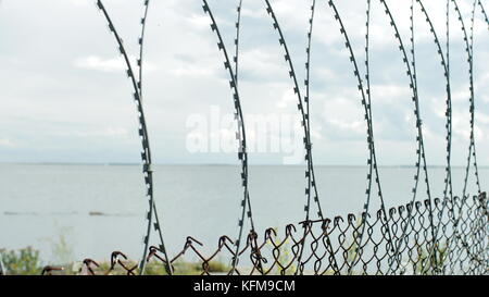
[(15, 250), (0, 250), (5, 273), (11, 275), (38, 275), (42, 271), (39, 251), (32, 247)]

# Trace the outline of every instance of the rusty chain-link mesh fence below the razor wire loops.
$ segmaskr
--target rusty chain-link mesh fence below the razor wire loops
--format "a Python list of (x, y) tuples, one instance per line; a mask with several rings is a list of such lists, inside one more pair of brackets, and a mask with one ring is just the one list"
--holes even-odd
[[(383, 210), (375, 215), (362, 213), (364, 220), (354, 214), (346, 218), (335, 216), (316, 221), (304, 221), (289, 224), (278, 232), (268, 228), (259, 237), (255, 232), (248, 234), (247, 243), (236, 255), (234, 242), (222, 236), (215, 249), (205, 248), (203, 244), (193, 237), (187, 237), (183, 249), (177, 252), (170, 262), (158, 247), (148, 250), (148, 263), (153, 263), (175, 274), (179, 274), (178, 262), (193, 260), (200, 268), (201, 275), (239, 274), (239, 275), (289, 275), (299, 271), (304, 275), (340, 275), (340, 274), (486, 274), (489, 272), (489, 215), (488, 198), (486, 193), (479, 196), (459, 198), (455, 197), (457, 207), (464, 212), (461, 224), (453, 226), (452, 220), (443, 212), (444, 205), (450, 203), (450, 198), (424, 200), (408, 203), (388, 210), (387, 221), (384, 220)], [(432, 213), (431, 213), (432, 202)], [(430, 214), (437, 223), (440, 223), (441, 232), (438, 233), (436, 259), (429, 256), (431, 245)], [(359, 236), (361, 224), (365, 225), (368, 236), (358, 247), (355, 236)], [(387, 235), (388, 226), (391, 234)], [(301, 228), (305, 230), (302, 232)], [(406, 230), (406, 232), (404, 232)], [(455, 231), (456, 230), (456, 231)], [(456, 233), (466, 238), (467, 248), (451, 245)], [(405, 240), (409, 237), (409, 240)], [(390, 246), (391, 239), (401, 245), (398, 257), (402, 264), (391, 265)], [(308, 248), (300, 253), (302, 243), (308, 242)], [(254, 246), (253, 243), (258, 243)], [(355, 253), (359, 255), (355, 257)], [(456, 257), (449, 257), (450, 253)], [(246, 258), (236, 267), (225, 265), (215, 271), (212, 263), (218, 259)], [(299, 268), (296, 267), (301, 257)], [(356, 258), (356, 259), (355, 259)], [(121, 251), (111, 255), (111, 265), (106, 271), (100, 271), (100, 265), (91, 259), (84, 261), (86, 267), (82, 274), (106, 275), (112, 274), (117, 267), (123, 274), (135, 275), (137, 265)], [(352, 267), (354, 267), (352, 269)], [(43, 274), (50, 274), (53, 270), (62, 268), (46, 268)]]

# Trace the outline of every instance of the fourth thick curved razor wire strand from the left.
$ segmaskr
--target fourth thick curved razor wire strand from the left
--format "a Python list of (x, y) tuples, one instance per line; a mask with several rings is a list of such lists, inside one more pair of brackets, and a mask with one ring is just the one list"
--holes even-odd
[[(376, 153), (375, 153), (374, 127), (373, 127), (373, 122), (372, 122), (372, 104), (371, 104), (369, 99), (367, 101), (367, 98), (365, 96), (365, 88), (364, 88), (362, 78), (360, 76), (360, 71), (359, 71), (356, 59), (355, 59), (355, 55), (354, 55), (354, 52), (353, 52), (353, 48), (352, 48), (352, 46), (350, 44), (350, 39), (348, 37), (348, 34), (347, 34), (347, 30), (344, 28), (343, 22), (342, 22), (342, 20), (340, 17), (340, 14), (339, 14), (339, 12), (338, 12), (338, 10), (337, 10), (337, 8), (335, 5), (335, 2), (333, 0), (328, 1), (328, 5), (333, 9), (333, 12), (334, 12), (334, 15), (335, 15), (335, 20), (340, 25), (340, 33), (343, 35), (344, 40), (346, 40), (344, 46), (346, 46), (347, 50), (350, 53), (350, 62), (353, 64), (353, 67), (354, 67), (353, 74), (354, 74), (355, 78), (358, 79), (358, 84), (359, 84), (358, 88), (359, 88), (359, 91), (360, 91), (360, 94), (362, 96), (361, 102), (362, 102), (362, 106), (364, 108), (364, 115), (365, 115), (366, 127), (367, 127), (367, 145), (368, 145), (368, 152), (369, 152), (369, 157), (367, 159), (367, 165), (369, 168), (368, 168), (368, 174), (367, 174), (367, 189), (365, 191), (366, 202), (364, 203), (364, 208), (363, 208), (364, 211), (363, 211), (362, 222), (361, 222), (362, 231), (360, 233), (359, 240), (358, 240), (358, 243), (360, 243), (360, 244), (358, 244), (358, 247), (355, 249), (355, 256), (354, 256), (354, 258), (356, 258), (358, 255), (359, 255), (359, 251), (360, 251), (359, 247), (361, 246), (362, 238), (364, 236), (364, 231), (365, 231), (364, 226), (366, 224), (366, 218), (368, 216), (368, 208), (369, 208), (369, 202), (371, 202), (371, 193), (372, 193), (372, 187), (373, 187), (372, 186), (372, 184), (373, 184), (373, 173), (375, 173), (375, 183), (377, 185), (378, 197), (379, 197), (379, 200), (380, 200), (380, 212), (383, 213), (384, 220), (386, 222), (387, 236), (390, 239), (392, 238), (392, 236), (391, 236), (391, 232), (390, 232), (390, 227), (389, 227), (389, 223), (388, 223), (388, 215), (387, 215), (387, 210), (386, 210), (386, 206), (385, 206), (385, 202), (384, 202), (384, 196), (383, 196), (381, 186), (380, 186), (380, 177), (379, 177), (378, 166), (377, 166), (377, 157), (376, 157)], [(367, 94), (368, 92), (369, 92), (369, 89), (367, 89)], [(387, 249), (392, 250), (392, 246), (388, 246)], [(351, 265), (350, 269), (349, 269), (350, 273), (351, 273), (351, 269), (354, 267), (355, 262), (356, 262), (356, 259), (353, 261), (353, 265)]]

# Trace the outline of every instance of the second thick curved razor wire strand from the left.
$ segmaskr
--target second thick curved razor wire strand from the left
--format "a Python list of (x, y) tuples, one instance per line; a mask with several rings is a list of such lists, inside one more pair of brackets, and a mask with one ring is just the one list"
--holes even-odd
[[(241, 102), (240, 102), (240, 98), (239, 98), (238, 85), (237, 85), (237, 81), (236, 81), (236, 74), (234, 73), (234, 70), (231, 67), (229, 55), (227, 54), (226, 46), (224, 45), (223, 37), (221, 35), (221, 32), (218, 29), (218, 26), (214, 18), (214, 15), (208, 4), (208, 1), (202, 0), (202, 2), (203, 2), (202, 9), (203, 9), (204, 13), (209, 14), (209, 16), (211, 18), (211, 29), (217, 36), (217, 39), (218, 39), (217, 47), (220, 48), (220, 50), (223, 51), (224, 66), (229, 72), (229, 77), (230, 77), (229, 86), (233, 90), (234, 107), (235, 107), (235, 112), (236, 112), (235, 120), (237, 121), (237, 124), (238, 124), (238, 133), (236, 135), (237, 136), (236, 138), (239, 141), (238, 159), (241, 161), (241, 170), (242, 170), (241, 171), (241, 182), (242, 182), (241, 185), (243, 187), (243, 199), (241, 200), (241, 218), (238, 221), (238, 226), (239, 226), (238, 238), (235, 242), (236, 252), (233, 257), (233, 271), (231, 271), (231, 274), (233, 274), (235, 272), (236, 265), (238, 264), (238, 261), (239, 261), (239, 248), (240, 248), (246, 215), (250, 220), (250, 224), (251, 224), (250, 233), (255, 234), (253, 215), (252, 215), (252, 211), (251, 211), (251, 201), (250, 201), (251, 199), (250, 199), (250, 195), (249, 195), (249, 190), (248, 190), (247, 136), (246, 136), (246, 129), (244, 129), (244, 119), (243, 119)], [(239, 26), (238, 26), (238, 29), (239, 29)], [(248, 206), (248, 211), (247, 211), (247, 206)]]

